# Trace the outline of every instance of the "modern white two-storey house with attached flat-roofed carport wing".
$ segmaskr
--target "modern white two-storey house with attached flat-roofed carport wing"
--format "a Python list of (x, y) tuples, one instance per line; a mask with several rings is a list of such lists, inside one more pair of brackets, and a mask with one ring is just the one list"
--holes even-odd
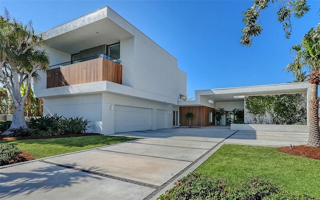
[[(298, 93), (308, 102), (309, 83), (196, 90), (194, 100), (180, 101), (186, 95), (186, 73), (177, 59), (107, 6), (42, 36), (51, 66), (35, 83), (34, 94), (43, 98), (43, 114), (83, 116), (90, 121), (89, 131), (187, 126), (187, 112), (194, 113), (192, 126), (215, 125), (215, 109), (224, 108), (220, 122), (231, 129), (307, 132), (305, 124), (249, 124), (245, 97)], [(234, 109), (244, 110), (243, 124), (233, 123)]]

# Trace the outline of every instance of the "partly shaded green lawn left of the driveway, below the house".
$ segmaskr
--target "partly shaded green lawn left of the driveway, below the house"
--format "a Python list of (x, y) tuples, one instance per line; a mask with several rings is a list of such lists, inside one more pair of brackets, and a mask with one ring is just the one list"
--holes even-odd
[(61, 137), (50, 139), (23, 139), (0, 141), (0, 143), (12, 143), (22, 151), (30, 153), (34, 158), (58, 155), (98, 146), (114, 144), (118, 142), (130, 141), (136, 138), (93, 135), (82, 137)]

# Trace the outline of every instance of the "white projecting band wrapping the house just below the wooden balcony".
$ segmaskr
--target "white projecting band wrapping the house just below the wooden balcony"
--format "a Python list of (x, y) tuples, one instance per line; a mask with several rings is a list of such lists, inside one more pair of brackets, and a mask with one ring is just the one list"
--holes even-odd
[(166, 104), (177, 103), (177, 99), (175, 98), (159, 95), (148, 91), (143, 91), (140, 89), (125, 86), (122, 84), (117, 84), (107, 80), (39, 89), (35, 92), (35, 96), (45, 99), (57, 96), (81, 95), (89, 93), (113, 93), (115, 95), (128, 96), (144, 100), (152, 100)]

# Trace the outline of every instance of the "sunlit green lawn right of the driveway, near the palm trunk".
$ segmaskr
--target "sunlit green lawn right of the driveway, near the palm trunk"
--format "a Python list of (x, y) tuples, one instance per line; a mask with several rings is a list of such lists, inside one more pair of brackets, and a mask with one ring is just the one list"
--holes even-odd
[(259, 176), (294, 194), (320, 198), (320, 160), (289, 155), (276, 147), (224, 144), (195, 172), (225, 177), (232, 185)]

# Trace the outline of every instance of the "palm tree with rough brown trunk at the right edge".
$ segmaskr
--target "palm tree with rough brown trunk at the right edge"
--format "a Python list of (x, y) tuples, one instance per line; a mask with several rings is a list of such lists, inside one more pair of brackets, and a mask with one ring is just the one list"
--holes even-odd
[(308, 81), (311, 83), (311, 94), (309, 101), (309, 138), (308, 146), (320, 146), (320, 130), (318, 117), (318, 85), (320, 82), (320, 23), (316, 28), (311, 28), (302, 38), (301, 44), (291, 47), (296, 51), (294, 61), (289, 63), (286, 71), (292, 71), (297, 78), (303, 67), (309, 71)]

